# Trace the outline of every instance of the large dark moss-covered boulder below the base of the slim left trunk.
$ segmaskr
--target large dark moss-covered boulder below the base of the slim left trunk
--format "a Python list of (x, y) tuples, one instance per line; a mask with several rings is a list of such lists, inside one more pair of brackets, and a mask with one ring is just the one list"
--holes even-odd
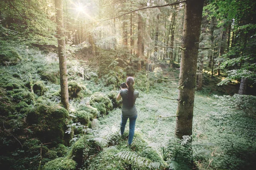
[(38, 103), (27, 112), (26, 121), (33, 135), (41, 141), (64, 143), (67, 118), (68, 111), (65, 108)]

